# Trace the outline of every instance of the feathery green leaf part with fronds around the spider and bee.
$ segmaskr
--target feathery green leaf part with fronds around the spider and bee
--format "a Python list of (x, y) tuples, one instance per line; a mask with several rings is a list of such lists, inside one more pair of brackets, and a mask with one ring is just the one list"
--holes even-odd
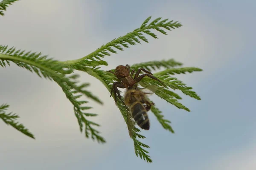
[[(168, 84), (168, 82), (171, 82), (171, 84), (173, 84), (173, 86), (174, 86), (173, 89), (181, 90), (185, 94), (194, 93), (190, 96), (199, 97), (195, 92), (192, 92), (188, 88), (186, 88), (185, 84), (180, 84), (181, 81), (177, 80), (177, 78), (170, 77), (170, 75), (172, 73), (177, 73), (177, 72), (182, 73), (185, 71), (188, 71), (188, 72), (200, 71), (199, 69), (194, 69), (194, 68), (192, 68), (192, 69), (172, 68), (172, 67), (180, 66), (180, 65), (182, 65), (182, 63), (175, 62), (173, 59), (170, 59), (167, 61), (162, 60), (159, 62), (140, 63), (137, 65), (133, 65), (131, 68), (134, 68), (135, 70), (137, 70), (137, 68), (146, 68), (146, 69), (147, 68), (154, 69), (154, 68), (160, 68), (160, 67), (167, 68), (167, 70), (169, 70), (169, 71), (167, 71), (167, 72), (160, 71), (155, 74), (156, 77), (159, 78), (160, 80), (162, 80), (168, 87), (172, 87), (170, 85), (170, 83)], [(72, 65), (72, 67), (75, 68), (76, 70), (87, 72), (91, 76), (99, 79), (105, 85), (105, 87), (108, 89), (109, 92), (111, 91), (113, 81), (118, 81), (116, 76), (114, 76), (113, 74), (111, 74), (109, 72), (100, 70), (99, 67), (91, 68), (91, 67), (79, 65), (79, 64)], [(148, 69), (148, 70), (150, 70), (150, 69)], [(172, 82), (172, 81), (174, 81), (174, 82)], [(177, 82), (175, 82), (175, 81), (177, 81)], [(186, 111), (190, 111), (189, 108), (186, 108), (184, 105), (182, 105), (180, 102), (177, 101), (177, 99), (182, 99), (178, 94), (176, 94), (173, 91), (170, 91), (169, 89), (161, 88), (162, 85), (159, 82), (145, 77), (139, 83), (143, 87), (147, 87), (148, 85), (156, 85), (156, 86), (160, 87), (155, 92), (155, 94), (157, 96), (159, 96), (162, 99), (165, 99), (167, 102), (171, 103), (172, 105), (175, 105), (177, 108), (184, 109)], [(131, 117), (129, 116), (128, 108), (125, 105), (123, 105), (122, 101), (119, 98), (117, 98), (117, 107), (119, 108), (120, 112), (122, 113), (122, 116), (125, 119), (125, 122), (128, 126), (130, 136), (132, 137), (132, 139), (134, 141), (135, 154), (137, 156), (140, 156), (140, 158), (144, 159), (148, 163), (151, 163), (152, 160), (151, 160), (150, 156), (148, 155), (148, 151), (143, 148), (143, 147), (149, 148), (149, 146), (146, 144), (143, 144), (142, 142), (140, 142), (138, 140), (138, 138), (144, 139), (145, 136), (142, 136), (139, 134), (140, 130), (138, 128), (136, 128), (134, 122), (131, 121)], [(163, 128), (174, 133), (174, 130), (169, 125), (170, 121), (163, 118), (163, 115), (161, 114), (162, 112), (159, 111), (159, 109), (152, 107), (152, 112), (157, 117), (157, 120), (160, 122), (160, 124), (163, 126)]]

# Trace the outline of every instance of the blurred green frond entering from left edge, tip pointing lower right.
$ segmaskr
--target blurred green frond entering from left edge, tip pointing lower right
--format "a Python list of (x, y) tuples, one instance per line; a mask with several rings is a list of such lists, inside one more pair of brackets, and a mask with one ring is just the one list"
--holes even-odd
[[(78, 86), (78, 81), (76, 78), (79, 76), (74, 74), (71, 77), (67, 77), (67, 74), (71, 74), (73, 72), (72, 69), (66, 69), (66, 65), (57, 60), (47, 59), (47, 56), (41, 56), (41, 53), (31, 53), (15, 50), (14, 47), (9, 48), (8, 46), (1, 46), (0, 45), (0, 59), (1, 65), (4, 67), (6, 66), (5, 61), (7, 63), (14, 62), (19, 67), (25, 68), (31, 72), (35, 72), (38, 74), (39, 77), (44, 77), (49, 80), (54, 80), (55, 82), (62, 83), (64, 82), (70, 88), (79, 91), (79, 93), (84, 94), (85, 96), (93, 99), (94, 101), (102, 104), (96, 96), (93, 96), (88, 91), (83, 90), (87, 84), (83, 84)], [(72, 80), (74, 79), (74, 80)]]

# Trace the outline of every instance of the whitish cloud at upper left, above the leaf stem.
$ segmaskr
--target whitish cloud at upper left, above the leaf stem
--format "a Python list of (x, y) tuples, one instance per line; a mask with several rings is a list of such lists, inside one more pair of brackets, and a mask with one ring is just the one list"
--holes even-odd
[(0, 18), (0, 30), (5, 32), (0, 44), (41, 51), (60, 60), (76, 59), (98, 47), (94, 30), (101, 12), (96, 1), (22, 0)]

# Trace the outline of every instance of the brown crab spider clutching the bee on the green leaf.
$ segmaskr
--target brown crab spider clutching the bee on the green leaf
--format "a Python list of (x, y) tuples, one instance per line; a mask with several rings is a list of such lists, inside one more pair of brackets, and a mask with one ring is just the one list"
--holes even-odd
[[(140, 71), (144, 71), (145, 74), (142, 74), (139, 76)], [(128, 88), (133, 88), (135, 87), (137, 89), (137, 86), (135, 85), (137, 82), (140, 82), (141, 79), (143, 79), (145, 76), (150, 77), (151, 79), (155, 79), (158, 82), (160, 82), (163, 86), (165, 86), (163, 84), (163, 82), (161, 82), (159, 79), (157, 79), (156, 77), (153, 76), (153, 74), (147, 70), (145, 70), (144, 68), (139, 68), (138, 71), (135, 73), (135, 70), (131, 71), (130, 74), (130, 66), (127, 65), (119, 65), (116, 67), (115, 72), (113, 71), (108, 71), (114, 75), (116, 75), (116, 77), (120, 80), (120, 82), (114, 82), (111, 92), (110, 92), (110, 96), (112, 95), (112, 93), (114, 92), (115, 95), (115, 102), (116, 102), (116, 94), (118, 95), (119, 99), (121, 99), (121, 95), (118, 91), (118, 88), (126, 88), (126, 90), (128, 90)], [(134, 77), (133, 77), (134, 75)], [(122, 100), (122, 99), (121, 99)], [(150, 108), (147, 108), (147, 110)]]

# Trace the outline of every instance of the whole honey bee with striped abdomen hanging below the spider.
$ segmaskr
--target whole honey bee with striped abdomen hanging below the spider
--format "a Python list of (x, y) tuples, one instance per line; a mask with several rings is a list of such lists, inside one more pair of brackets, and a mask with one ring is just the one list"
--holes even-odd
[(144, 130), (149, 130), (150, 123), (147, 112), (154, 103), (148, 100), (146, 94), (152, 93), (145, 93), (137, 88), (128, 88), (124, 95), (124, 102), (137, 125)]

